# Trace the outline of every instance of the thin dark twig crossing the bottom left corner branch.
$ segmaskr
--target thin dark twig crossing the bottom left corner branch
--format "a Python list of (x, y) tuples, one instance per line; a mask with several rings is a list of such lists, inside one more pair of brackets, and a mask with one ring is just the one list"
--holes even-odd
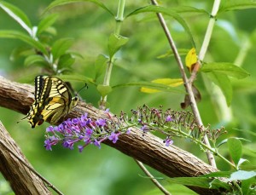
[(44, 181), (45, 184), (47, 184), (47, 186), (49, 186), (50, 188), (52, 188), (56, 193), (58, 193), (59, 195), (63, 195), (63, 193), (61, 191), (59, 191), (55, 186), (53, 186), (49, 181), (47, 181), (44, 176), (40, 175), (35, 169), (33, 169), (30, 165), (28, 165), (22, 158), (20, 158), (19, 156), (17, 156), (15, 154), (15, 152), (13, 152), (11, 149), (9, 149), (9, 147), (5, 146), (5, 144), (3, 143), (3, 141), (0, 140), (0, 143), (2, 146), (4, 146), (4, 148), (6, 150), (8, 150), (8, 152), (10, 152), (12, 155), (15, 156), (15, 158), (17, 158), (20, 163), (22, 163), (24, 166), (26, 166), (27, 169), (30, 169), (32, 171), (33, 174), (37, 175), (42, 181)]

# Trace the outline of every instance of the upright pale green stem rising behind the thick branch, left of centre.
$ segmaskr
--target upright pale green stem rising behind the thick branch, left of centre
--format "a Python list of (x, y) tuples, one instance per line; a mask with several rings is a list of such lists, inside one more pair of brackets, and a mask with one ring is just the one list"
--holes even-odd
[[(119, 35), (122, 21), (124, 20), (124, 11), (125, 11), (125, 0), (119, 0), (119, 7), (117, 10), (117, 15), (115, 17), (115, 29), (114, 29), (114, 34)], [(114, 54), (112, 58), (109, 59), (107, 68), (106, 68), (106, 73), (103, 81), (103, 86), (109, 86), (110, 83), (110, 77), (112, 73), (112, 68), (113, 68), (113, 59), (114, 59)], [(106, 102), (107, 102), (108, 96), (101, 97), (101, 103), (100, 103), (100, 109), (105, 110), (106, 108)]]

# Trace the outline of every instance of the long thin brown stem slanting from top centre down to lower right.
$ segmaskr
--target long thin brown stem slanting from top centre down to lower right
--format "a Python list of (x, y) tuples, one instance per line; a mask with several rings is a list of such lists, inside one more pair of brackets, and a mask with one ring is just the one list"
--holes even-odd
[[(155, 0), (151, 0), (151, 2), (154, 5), (158, 5), (158, 3)], [(183, 77), (183, 83), (184, 83), (185, 89), (186, 89), (186, 91), (189, 94), (190, 106), (191, 106), (192, 112), (193, 112), (193, 114), (195, 116), (195, 121), (196, 121), (196, 123), (197, 123), (197, 125), (199, 127), (201, 127), (202, 129), (205, 129), (204, 125), (203, 125), (203, 123), (201, 121), (200, 112), (198, 111), (198, 107), (197, 107), (196, 102), (195, 102), (195, 96), (193, 94), (192, 85), (189, 82), (188, 77), (186, 76), (186, 73), (185, 73), (184, 67), (183, 67), (183, 62), (182, 62), (182, 60), (180, 58), (180, 55), (177, 52), (177, 48), (176, 48), (176, 45), (175, 45), (175, 43), (174, 43), (174, 41), (172, 39), (171, 33), (170, 33), (168, 27), (166, 26), (166, 21), (164, 20), (164, 17), (162, 16), (162, 14), (157, 13), (157, 16), (158, 16), (158, 18), (160, 20), (161, 26), (164, 29), (164, 32), (166, 33), (166, 37), (167, 37), (168, 42), (169, 42), (169, 44), (170, 44), (170, 46), (172, 48), (173, 54), (175, 56), (175, 59), (177, 60), (177, 65), (178, 65), (178, 67), (180, 69), (180, 72), (181, 72), (181, 75)], [(205, 142), (205, 144), (207, 146), (211, 147), (210, 142), (209, 142), (209, 140), (207, 138), (207, 135), (204, 136), (204, 142)], [(207, 158), (208, 158), (209, 163), (212, 165), (212, 167), (216, 168), (215, 159), (214, 159), (214, 157), (213, 157), (211, 152), (207, 152)]]

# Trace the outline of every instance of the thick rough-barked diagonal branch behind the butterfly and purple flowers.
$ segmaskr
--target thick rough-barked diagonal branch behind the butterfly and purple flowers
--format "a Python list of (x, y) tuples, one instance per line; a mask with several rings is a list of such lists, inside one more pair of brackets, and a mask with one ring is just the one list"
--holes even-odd
[[(15, 83), (0, 77), (0, 106), (26, 114), (32, 105), (33, 93), (34, 87), (32, 85)], [(84, 102), (79, 102), (79, 105), (73, 109), (67, 118), (77, 117), (84, 112), (87, 112), (90, 118), (108, 119), (104, 112)], [(143, 135), (141, 130), (137, 128), (133, 128), (129, 135), (121, 135), (116, 144), (110, 141), (105, 143), (169, 177), (193, 177), (217, 171), (191, 153), (183, 151), (177, 146), (167, 147), (160, 138), (150, 133)], [(199, 187), (191, 187), (191, 189), (200, 194), (220, 193)]]

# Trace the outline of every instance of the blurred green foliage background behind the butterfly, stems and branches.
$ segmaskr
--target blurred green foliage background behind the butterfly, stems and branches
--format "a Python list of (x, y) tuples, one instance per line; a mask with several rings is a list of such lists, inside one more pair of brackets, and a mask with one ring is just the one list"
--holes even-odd
[[(52, 1), (28, 0), (26, 3), (18, 0), (6, 1), (23, 10), (32, 25), (38, 25), (44, 9)], [(224, 1), (224, 3), (229, 1)], [(108, 9), (116, 13), (118, 1), (104, 1)], [(160, 5), (166, 8), (178, 6), (191, 6), (196, 9), (204, 9), (211, 12), (213, 1), (162, 1)], [(223, 5), (224, 5), (223, 3)], [(127, 1), (125, 15), (135, 9), (148, 5), (144, 1)], [(99, 54), (108, 54), (108, 37), (113, 33), (115, 20), (113, 15), (96, 6), (94, 3), (72, 3), (50, 9), (47, 13), (59, 14), (51, 33), (46, 39), (73, 38), (72, 50), (78, 52), (83, 58), (77, 58), (72, 66), (73, 73), (79, 73), (84, 77), (95, 77), (95, 61)], [(197, 52), (201, 48), (209, 15), (205, 13), (180, 13), (189, 26), (194, 37)], [(22, 31), (15, 20), (0, 9), (0, 30)], [(193, 45), (188, 33), (183, 27), (166, 16), (166, 22), (172, 32), (172, 37), (178, 49), (191, 49)], [(212, 128), (225, 126), (229, 132), (223, 135), (225, 138), (237, 136), (251, 141), (242, 142), (242, 158), (247, 158), (250, 163), (256, 163), (256, 136), (247, 131), (255, 132), (256, 119), (256, 12), (255, 9), (232, 10), (218, 14), (216, 26), (207, 50), (206, 62), (230, 62), (241, 66), (251, 74), (246, 79), (231, 80), (233, 98), (230, 107), (221, 93), (216, 91), (208, 77), (199, 74), (195, 85), (201, 91), (202, 100), (199, 103), (202, 120), (205, 124), (211, 124)], [(55, 33), (55, 36), (53, 34)], [(142, 13), (126, 18), (123, 21), (120, 35), (129, 37), (128, 43), (115, 55), (111, 85), (128, 82), (139, 82), (157, 78), (180, 78), (177, 62), (171, 55), (167, 58), (158, 58), (166, 54), (170, 48), (164, 32), (154, 13)], [(0, 39), (0, 75), (22, 83), (32, 83), (38, 74), (44, 74), (41, 66), (25, 66), (24, 54), (17, 49), (26, 48), (26, 43), (16, 39)], [(184, 61), (184, 55), (183, 61)], [(102, 83), (103, 76), (98, 77), (97, 83)], [(74, 89), (84, 85), (82, 82), (72, 82)], [(1, 84), (1, 83), (0, 83)], [(214, 92), (214, 94), (212, 93)], [(98, 106), (100, 94), (96, 86), (89, 84), (89, 89), (81, 91), (80, 95)], [(130, 113), (131, 109), (147, 104), (148, 106), (180, 110), (183, 94), (160, 92), (156, 94), (143, 94), (138, 87), (124, 87), (114, 89), (108, 95), (110, 111), (119, 114), (120, 111)], [(47, 123), (37, 129), (30, 129), (28, 123), (16, 121), (22, 118), (21, 114), (0, 108), (0, 119), (11, 136), (15, 139), (26, 158), (32, 163), (39, 173), (44, 175), (64, 194), (160, 194), (148, 179), (141, 177), (142, 170), (137, 167), (133, 159), (113, 150), (108, 146), (98, 149), (88, 146), (84, 152), (69, 151), (61, 147), (55, 147), (52, 152), (44, 149), (44, 130)], [(241, 130), (238, 130), (241, 129)], [(244, 129), (244, 130), (243, 130)], [(205, 160), (206, 154), (201, 152), (198, 146), (192, 142), (177, 138), (174, 145), (186, 151), (194, 153)], [(229, 157), (227, 145), (220, 147), (220, 152), (226, 158)], [(229, 170), (228, 164), (217, 158), (218, 169)], [(160, 177), (160, 173), (152, 170), (153, 175)], [(3, 180), (4, 181), (4, 180)], [(165, 182), (165, 181), (164, 181)], [(0, 183), (0, 188), (3, 185)], [(185, 194), (180, 192), (180, 186), (168, 186), (172, 194)], [(174, 189), (174, 190), (173, 190)], [(1, 191), (0, 191), (1, 192)], [(192, 194), (192, 192), (187, 192)]]

